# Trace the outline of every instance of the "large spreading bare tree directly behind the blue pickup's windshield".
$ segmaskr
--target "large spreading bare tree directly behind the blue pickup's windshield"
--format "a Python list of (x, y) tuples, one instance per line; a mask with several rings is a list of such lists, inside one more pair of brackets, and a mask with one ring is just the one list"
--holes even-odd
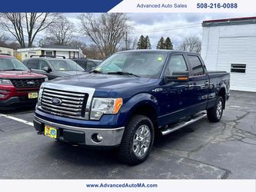
[(124, 13), (86, 13), (79, 15), (78, 18), (81, 32), (91, 38), (103, 58), (114, 54), (120, 48), (120, 42), (131, 28)]

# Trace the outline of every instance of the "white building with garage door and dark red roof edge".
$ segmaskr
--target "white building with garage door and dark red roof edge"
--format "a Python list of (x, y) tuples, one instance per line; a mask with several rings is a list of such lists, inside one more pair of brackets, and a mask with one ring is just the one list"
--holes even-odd
[(256, 17), (204, 21), (201, 57), (231, 73), (231, 90), (256, 91)]

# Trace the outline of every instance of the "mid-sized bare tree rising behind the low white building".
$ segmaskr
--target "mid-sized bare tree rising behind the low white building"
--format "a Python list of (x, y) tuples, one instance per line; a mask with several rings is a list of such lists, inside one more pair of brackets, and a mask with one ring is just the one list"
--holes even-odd
[(68, 45), (73, 37), (74, 25), (63, 15), (59, 15), (58, 22), (47, 28), (45, 43), (50, 45)]

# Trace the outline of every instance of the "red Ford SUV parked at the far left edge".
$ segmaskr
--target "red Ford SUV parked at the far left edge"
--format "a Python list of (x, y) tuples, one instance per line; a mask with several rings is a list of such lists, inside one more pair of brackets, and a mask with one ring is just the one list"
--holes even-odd
[(0, 54), (0, 110), (35, 105), (38, 90), (47, 80), (11, 55)]

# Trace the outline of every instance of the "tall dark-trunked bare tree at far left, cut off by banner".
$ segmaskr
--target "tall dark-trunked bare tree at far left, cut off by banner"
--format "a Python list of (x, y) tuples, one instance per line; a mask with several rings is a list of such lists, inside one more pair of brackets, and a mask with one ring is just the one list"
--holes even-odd
[[(38, 32), (45, 30), (56, 22), (56, 13), (0, 13), (0, 25), (5, 31), (10, 32), (21, 45), (21, 48), (32, 47)], [(25, 43), (28, 39), (28, 43)]]

